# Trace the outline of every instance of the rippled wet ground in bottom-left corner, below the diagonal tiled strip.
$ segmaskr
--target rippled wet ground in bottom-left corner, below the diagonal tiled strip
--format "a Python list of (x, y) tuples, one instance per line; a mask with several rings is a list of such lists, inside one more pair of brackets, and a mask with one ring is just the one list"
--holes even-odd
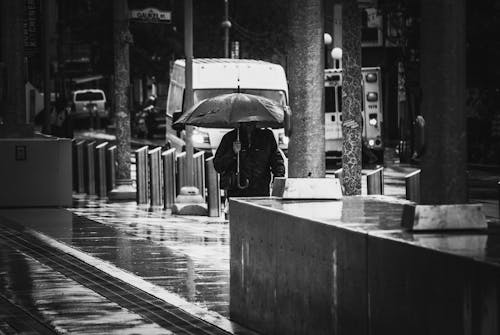
[(3, 243), (0, 295), (58, 333), (171, 334)]

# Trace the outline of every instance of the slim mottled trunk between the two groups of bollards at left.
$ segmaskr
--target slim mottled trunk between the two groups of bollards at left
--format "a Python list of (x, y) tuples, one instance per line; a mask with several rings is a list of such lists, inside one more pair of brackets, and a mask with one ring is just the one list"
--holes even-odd
[(130, 87), (129, 43), (132, 35), (128, 29), (127, 0), (114, 0), (114, 66), (115, 66), (115, 120), (117, 147), (117, 182), (130, 180)]

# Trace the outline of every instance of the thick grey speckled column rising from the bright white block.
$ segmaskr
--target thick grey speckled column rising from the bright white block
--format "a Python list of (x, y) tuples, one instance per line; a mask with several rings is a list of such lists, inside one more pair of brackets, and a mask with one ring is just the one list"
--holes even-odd
[(322, 0), (289, 1), (288, 66), (293, 133), (289, 176), (325, 176)]

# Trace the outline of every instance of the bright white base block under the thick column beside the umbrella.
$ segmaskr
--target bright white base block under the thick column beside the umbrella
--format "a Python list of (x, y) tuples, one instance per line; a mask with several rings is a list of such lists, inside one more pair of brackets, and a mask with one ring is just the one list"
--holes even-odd
[(342, 198), (339, 179), (333, 178), (275, 178), (273, 196), (283, 199)]

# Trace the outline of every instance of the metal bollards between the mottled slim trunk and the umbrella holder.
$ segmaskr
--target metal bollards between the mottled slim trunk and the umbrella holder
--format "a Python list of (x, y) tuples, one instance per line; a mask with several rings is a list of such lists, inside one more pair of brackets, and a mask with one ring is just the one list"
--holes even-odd
[(187, 185), (186, 152), (147, 146), (135, 151), (137, 204), (171, 209), (183, 186), (195, 186), (208, 205), (211, 217), (221, 214), (219, 175), (213, 158), (205, 160), (203, 151), (193, 155), (193, 185)]

